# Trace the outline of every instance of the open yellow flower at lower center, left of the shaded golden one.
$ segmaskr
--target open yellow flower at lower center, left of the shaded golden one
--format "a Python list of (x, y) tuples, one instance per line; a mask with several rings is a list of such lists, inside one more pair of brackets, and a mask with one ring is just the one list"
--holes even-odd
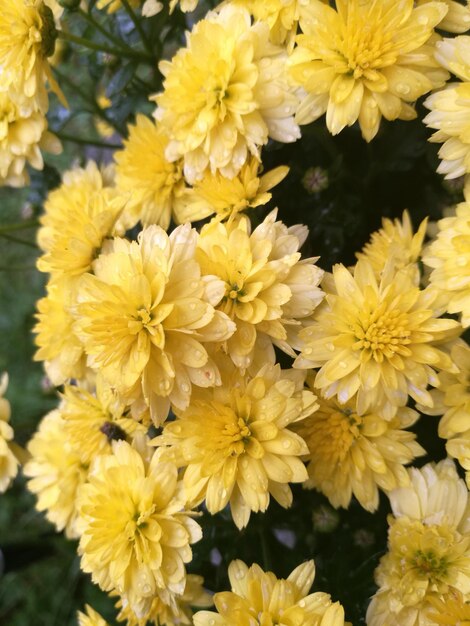
[(303, 482), (299, 456), (308, 453), (289, 425), (315, 410), (315, 396), (303, 390), (300, 372), (265, 365), (253, 377), (228, 369), (223, 385), (195, 390), (185, 411), (152, 441), (184, 467), (188, 498), (215, 514), (228, 503), (238, 528), (251, 511), (265, 511), (270, 494), (285, 508), (292, 503), (287, 483)]

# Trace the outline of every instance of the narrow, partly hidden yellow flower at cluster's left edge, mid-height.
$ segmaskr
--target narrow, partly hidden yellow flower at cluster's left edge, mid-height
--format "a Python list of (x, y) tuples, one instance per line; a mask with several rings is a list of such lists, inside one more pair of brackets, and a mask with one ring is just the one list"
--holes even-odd
[(73, 284), (64, 279), (49, 281), (47, 295), (37, 302), (35, 361), (44, 361), (44, 368), (54, 385), (85, 373), (83, 346), (73, 331), (74, 318), (69, 312), (74, 304)]

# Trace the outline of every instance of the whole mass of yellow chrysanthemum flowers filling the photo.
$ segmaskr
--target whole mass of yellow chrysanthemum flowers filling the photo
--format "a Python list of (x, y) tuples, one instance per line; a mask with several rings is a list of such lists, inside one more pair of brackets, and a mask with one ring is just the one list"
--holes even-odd
[[(405, 212), (383, 221), (354, 267), (331, 273), (302, 257), (304, 226), (286, 226), (277, 209), (257, 223), (244, 211), (265, 205), (288, 174), (263, 171), (269, 141), (296, 141), (324, 113), (332, 134), (358, 121), (371, 141), (382, 117), (416, 117), (415, 101), (449, 71), (467, 82), (433, 93), (426, 121), (445, 141), (439, 171), (470, 173), (470, 38), (435, 32), (465, 32), (470, 9), (331, 4), (223, 2), (161, 62), (153, 119), (137, 115), (110, 166), (74, 167), (45, 202), (37, 266), (49, 279), (35, 358), (63, 391), (24, 473), (37, 508), (79, 539), (82, 569), (130, 626), (344, 626), (339, 603), (309, 594), (313, 561), (286, 580), (234, 561), (231, 591), (214, 598), (187, 572), (199, 507), (229, 506), (242, 529), (271, 496), (289, 507), (290, 483), (335, 507), (354, 496), (375, 511), (379, 490), (390, 497), (369, 626), (446, 624), (467, 612), (467, 487), (453, 461), (405, 465), (425, 454), (407, 430), (418, 411), (443, 415), (439, 434), (470, 486), (461, 338), (470, 197), (424, 249), (426, 220), (414, 233)], [(47, 57), (60, 11), (53, 0), (0, 0), (0, 9), (0, 181), (19, 184), (49, 138), (46, 87), (58, 88)], [(191, 223), (202, 219), (198, 231)], [(281, 369), (280, 352), (292, 367)], [(18, 459), (2, 407), (6, 488)], [(217, 613), (192, 616), (212, 602)], [(91, 607), (79, 623), (106, 626)]]

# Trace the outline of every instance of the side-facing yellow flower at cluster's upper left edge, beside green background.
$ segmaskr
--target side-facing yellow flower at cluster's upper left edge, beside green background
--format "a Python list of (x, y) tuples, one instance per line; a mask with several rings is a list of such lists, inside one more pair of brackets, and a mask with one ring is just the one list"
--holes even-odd
[[(92, 207), (99, 208), (99, 204), (94, 203), (95, 196), (99, 196), (103, 199), (111, 201), (114, 197), (113, 187), (114, 185), (114, 171), (112, 168), (99, 168), (94, 161), (89, 161), (86, 167), (74, 167), (66, 171), (62, 176), (62, 184), (57, 189), (49, 192), (46, 201), (44, 203), (44, 213), (39, 218), (41, 224), (38, 233), (37, 240), (38, 245), (43, 252), (50, 253), (53, 248), (57, 248), (57, 242), (60, 241), (63, 232), (67, 232), (72, 236), (74, 241), (72, 244), (72, 250), (63, 251), (67, 255), (67, 262), (62, 265), (67, 268), (71, 263), (72, 267), (80, 267), (89, 265), (89, 237), (87, 231), (91, 230), (92, 238), (96, 239), (97, 231), (102, 231), (101, 222), (109, 222), (109, 213), (100, 216), (100, 212), (97, 210), (89, 209), (91, 203)], [(109, 209), (103, 207), (104, 211)], [(70, 216), (73, 215), (74, 219), (71, 220)], [(77, 216), (75, 218), (75, 216)], [(80, 226), (76, 227), (75, 233), (73, 233), (75, 220), (82, 224), (82, 231)], [(70, 222), (73, 224), (71, 225)], [(91, 226), (85, 226), (92, 222)], [(75, 237), (78, 241), (75, 242)], [(65, 242), (62, 242), (65, 247)], [(85, 258), (83, 258), (83, 248), (86, 248)], [(76, 249), (77, 258), (69, 258), (68, 255), (73, 255)], [(93, 253), (91, 253), (93, 254)], [(57, 252), (53, 255), (59, 257), (56, 263), (60, 265), (60, 253)], [(80, 258), (82, 257), (82, 258)], [(52, 260), (52, 259), (51, 259)], [(51, 269), (55, 268), (55, 264)], [(45, 269), (44, 271), (49, 271)]]

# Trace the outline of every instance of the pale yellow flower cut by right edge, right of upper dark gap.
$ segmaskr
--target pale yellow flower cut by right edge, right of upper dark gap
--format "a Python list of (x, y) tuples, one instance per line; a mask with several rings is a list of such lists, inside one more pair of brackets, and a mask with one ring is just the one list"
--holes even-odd
[(424, 123), (437, 130), (430, 141), (443, 143), (437, 171), (446, 178), (470, 172), (470, 37), (444, 39), (437, 44), (436, 59), (463, 83), (449, 83), (424, 102), (431, 110)]

